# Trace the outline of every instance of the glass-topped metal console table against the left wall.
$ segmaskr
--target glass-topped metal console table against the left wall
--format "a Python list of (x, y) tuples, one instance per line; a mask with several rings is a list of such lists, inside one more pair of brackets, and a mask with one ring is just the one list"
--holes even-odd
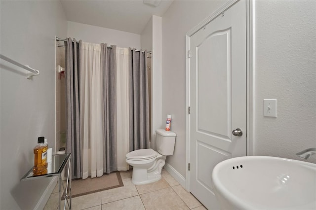
[[(51, 167), (51, 170), (50, 170)], [(64, 169), (67, 170), (67, 181), (64, 183), (62, 180), (62, 173)], [(58, 192), (59, 192), (59, 201), (58, 201), (58, 209), (61, 210), (60, 204), (62, 199), (62, 193), (63, 198), (65, 199), (64, 203), (64, 210), (66, 210), (66, 204), (68, 206), (68, 209), (71, 210), (71, 180), (72, 180), (72, 174), (71, 174), (71, 153), (66, 154), (57, 154), (52, 155), (52, 162), (51, 166), (50, 164), (47, 167), (48, 173), (45, 175), (33, 175), (33, 168), (21, 178), (21, 181), (30, 180), (30, 179), (38, 179), (38, 178), (44, 178), (44, 177), (52, 177), (52, 176), (58, 176)], [(63, 192), (61, 191), (63, 187)]]

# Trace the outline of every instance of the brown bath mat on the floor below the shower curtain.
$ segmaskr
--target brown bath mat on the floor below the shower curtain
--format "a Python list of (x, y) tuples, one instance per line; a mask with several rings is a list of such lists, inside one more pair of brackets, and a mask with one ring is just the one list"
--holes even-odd
[(71, 184), (71, 197), (75, 198), (81, 195), (87, 195), (121, 186), (124, 185), (119, 172), (104, 174), (94, 178), (73, 179)]

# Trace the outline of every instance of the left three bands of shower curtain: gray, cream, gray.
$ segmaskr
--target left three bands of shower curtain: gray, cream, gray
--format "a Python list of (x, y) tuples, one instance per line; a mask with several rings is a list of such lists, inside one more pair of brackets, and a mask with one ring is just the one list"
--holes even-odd
[[(66, 151), (72, 153), (74, 178), (101, 176), (117, 171), (116, 46), (108, 48), (106, 44), (83, 43), (67, 38)], [(95, 53), (99, 49), (101, 53)], [(94, 60), (87, 60), (89, 58)], [(95, 62), (98, 59), (100, 62)], [(102, 83), (98, 87), (95, 86), (96, 79), (98, 84)], [(96, 110), (98, 113), (95, 113)], [(101, 115), (102, 120), (99, 120), (101, 118), (98, 115)], [(96, 140), (100, 138), (103, 142), (97, 146)], [(100, 152), (101, 160), (98, 158)]]

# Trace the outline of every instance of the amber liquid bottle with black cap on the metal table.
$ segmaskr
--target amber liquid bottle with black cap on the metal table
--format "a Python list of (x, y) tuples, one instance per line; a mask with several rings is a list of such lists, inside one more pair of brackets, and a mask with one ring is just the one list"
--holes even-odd
[(47, 174), (47, 143), (44, 137), (38, 138), (38, 144), (34, 147), (34, 167), (33, 175)]

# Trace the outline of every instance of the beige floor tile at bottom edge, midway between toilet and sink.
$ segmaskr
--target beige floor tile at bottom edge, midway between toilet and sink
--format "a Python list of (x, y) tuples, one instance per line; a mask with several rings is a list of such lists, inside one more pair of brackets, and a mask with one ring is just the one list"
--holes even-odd
[(140, 197), (146, 210), (189, 210), (171, 187), (142, 194)]

